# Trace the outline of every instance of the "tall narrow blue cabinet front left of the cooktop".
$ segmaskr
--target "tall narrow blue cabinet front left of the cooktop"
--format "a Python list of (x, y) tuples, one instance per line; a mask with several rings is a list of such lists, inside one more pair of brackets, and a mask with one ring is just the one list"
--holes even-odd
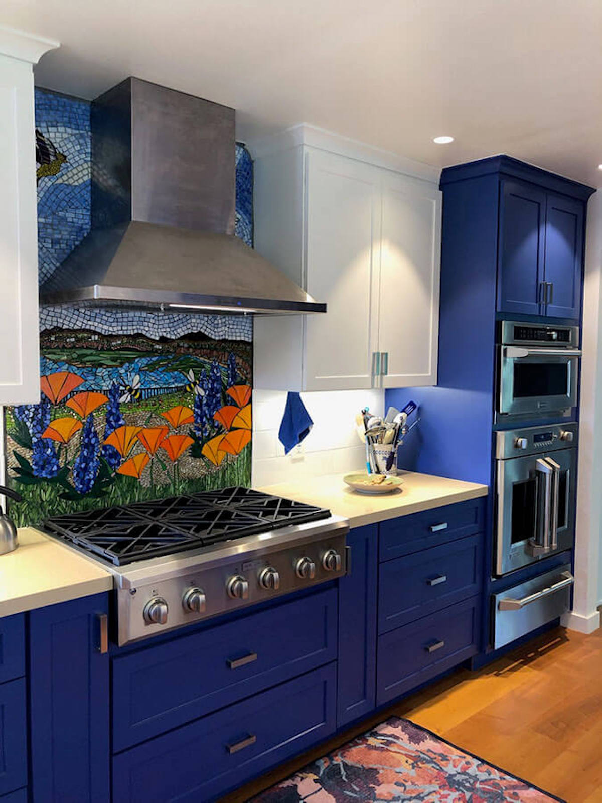
[(35, 803), (107, 803), (108, 594), (30, 613), (31, 789)]

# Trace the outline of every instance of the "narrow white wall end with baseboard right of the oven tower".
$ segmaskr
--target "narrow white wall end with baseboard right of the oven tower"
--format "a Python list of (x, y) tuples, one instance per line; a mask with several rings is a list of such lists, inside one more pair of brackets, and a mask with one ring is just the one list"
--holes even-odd
[(602, 601), (602, 190), (588, 203), (582, 346), (575, 598), (563, 625), (592, 633)]

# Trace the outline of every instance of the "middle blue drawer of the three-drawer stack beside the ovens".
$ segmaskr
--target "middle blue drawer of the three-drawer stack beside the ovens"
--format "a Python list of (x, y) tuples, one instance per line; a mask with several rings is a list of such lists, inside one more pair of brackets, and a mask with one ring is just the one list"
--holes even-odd
[(481, 589), (482, 539), (479, 533), (380, 564), (378, 632), (474, 597)]

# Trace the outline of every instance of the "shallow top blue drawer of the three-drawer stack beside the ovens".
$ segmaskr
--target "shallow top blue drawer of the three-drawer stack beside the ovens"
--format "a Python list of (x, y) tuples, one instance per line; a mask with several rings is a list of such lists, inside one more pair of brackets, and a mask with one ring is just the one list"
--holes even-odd
[(484, 517), (483, 497), (384, 521), (380, 524), (380, 560), (392, 560), (482, 532)]

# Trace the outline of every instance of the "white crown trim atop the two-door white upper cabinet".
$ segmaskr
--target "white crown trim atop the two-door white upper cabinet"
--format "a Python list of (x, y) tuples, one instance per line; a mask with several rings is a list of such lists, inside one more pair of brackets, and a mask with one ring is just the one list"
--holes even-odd
[(425, 162), (410, 159), (400, 153), (376, 148), (374, 145), (368, 145), (307, 123), (293, 125), (291, 128), (286, 128), (284, 131), (268, 137), (258, 137), (258, 139), (246, 141), (246, 146), (254, 159), (296, 148), (299, 145), (337, 153), (340, 156), (365, 161), (372, 166), (376, 165), (376, 167), (404, 173), (425, 181), (437, 182), (441, 173), (441, 168), (427, 165)]

